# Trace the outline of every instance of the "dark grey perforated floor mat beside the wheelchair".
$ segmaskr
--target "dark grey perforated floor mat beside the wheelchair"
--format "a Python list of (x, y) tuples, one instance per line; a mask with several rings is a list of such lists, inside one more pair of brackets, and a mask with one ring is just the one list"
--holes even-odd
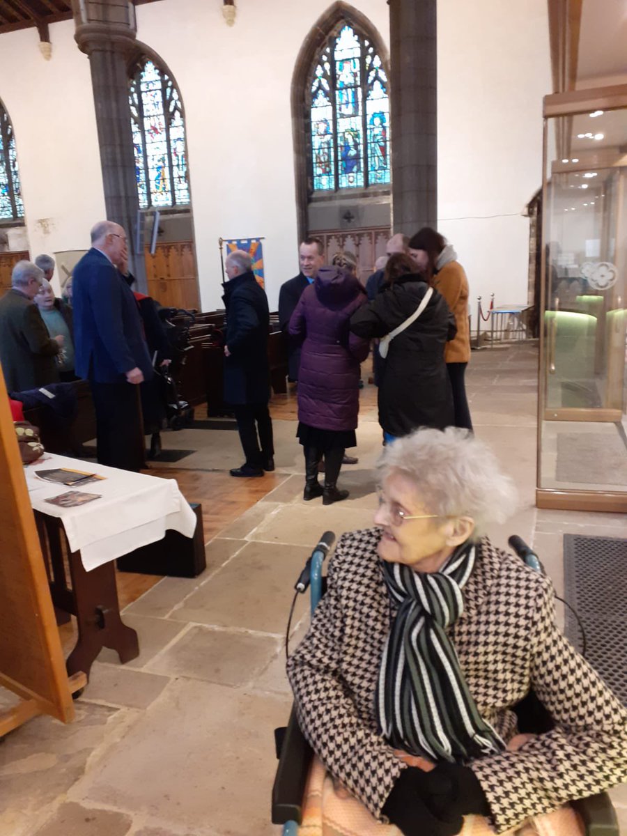
[[(563, 568), (564, 597), (584, 626), (586, 659), (627, 706), (627, 540), (564, 534)], [(582, 650), (568, 607), (566, 635)]]

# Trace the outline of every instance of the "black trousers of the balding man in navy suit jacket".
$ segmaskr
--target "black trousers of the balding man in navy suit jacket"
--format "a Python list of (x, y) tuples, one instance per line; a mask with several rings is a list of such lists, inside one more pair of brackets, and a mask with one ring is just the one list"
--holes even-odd
[(140, 387), (89, 380), (96, 412), (97, 456), (101, 465), (139, 472), (145, 466)]

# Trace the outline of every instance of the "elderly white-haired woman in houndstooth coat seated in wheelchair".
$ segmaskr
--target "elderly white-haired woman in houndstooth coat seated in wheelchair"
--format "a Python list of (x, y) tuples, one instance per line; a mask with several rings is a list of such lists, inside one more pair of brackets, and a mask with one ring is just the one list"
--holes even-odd
[[(363, 805), (342, 832), (503, 833), (624, 780), (627, 713), (556, 627), (550, 581), (486, 536), (515, 499), (489, 448), (415, 431), (378, 475), (376, 528), (339, 540), (288, 660), (305, 737)], [(553, 729), (523, 736), (530, 691)]]

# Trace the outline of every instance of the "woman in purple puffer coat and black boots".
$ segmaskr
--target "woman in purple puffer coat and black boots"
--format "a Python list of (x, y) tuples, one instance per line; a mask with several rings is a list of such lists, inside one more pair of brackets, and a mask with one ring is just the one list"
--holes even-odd
[[(298, 370), (298, 441), (305, 454), (303, 499), (324, 505), (348, 497), (337, 487), (344, 450), (357, 444), (359, 363), (369, 341), (349, 332), (349, 319), (367, 298), (359, 279), (341, 268), (321, 268), (305, 288), (289, 321), (303, 339)], [(318, 462), (324, 455), (324, 489)]]

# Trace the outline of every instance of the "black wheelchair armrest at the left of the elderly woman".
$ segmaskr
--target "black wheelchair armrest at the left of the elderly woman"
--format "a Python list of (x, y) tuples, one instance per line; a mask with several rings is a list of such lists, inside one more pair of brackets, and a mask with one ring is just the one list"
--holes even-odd
[(288, 821), (301, 823), (303, 795), (313, 754), (298, 726), (296, 710), (292, 708), (283, 737), (277, 774), (274, 776), (273, 824), (284, 824)]

